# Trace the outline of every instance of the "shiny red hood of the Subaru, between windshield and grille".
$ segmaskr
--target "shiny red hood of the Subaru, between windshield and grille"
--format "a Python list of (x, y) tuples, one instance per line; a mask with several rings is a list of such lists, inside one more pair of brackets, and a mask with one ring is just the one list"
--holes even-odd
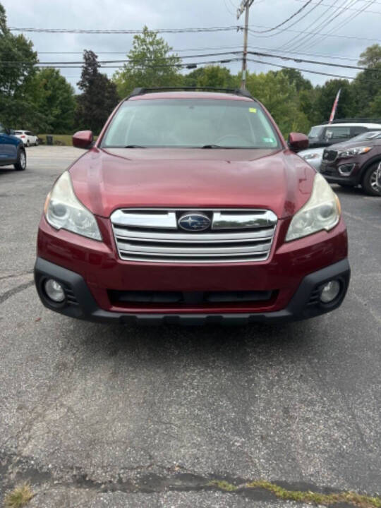
[(315, 171), (290, 150), (99, 149), (70, 168), (75, 194), (94, 214), (121, 207), (256, 207), (292, 215)]

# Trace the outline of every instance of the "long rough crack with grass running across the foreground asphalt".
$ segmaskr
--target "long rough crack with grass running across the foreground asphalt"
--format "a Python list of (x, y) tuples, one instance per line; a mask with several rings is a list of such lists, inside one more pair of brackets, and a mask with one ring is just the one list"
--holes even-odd
[[(274, 483), (265, 480), (244, 480), (226, 475), (199, 475), (189, 472), (176, 464), (171, 467), (160, 464), (138, 465), (122, 468), (114, 479), (99, 481), (85, 472), (82, 467), (69, 467), (60, 473), (48, 468), (39, 468), (35, 460), (30, 457), (15, 456), (14, 454), (0, 455), (0, 473), (4, 481), (4, 490), (16, 483), (28, 480), (33, 485), (40, 485), (36, 495), (43, 495), (46, 499), (50, 490), (56, 488), (75, 488), (85, 490), (90, 496), (98, 493), (162, 493), (162, 492), (200, 492), (214, 490), (226, 495), (241, 495), (253, 501), (286, 501), (308, 502), (314, 504), (316, 500), (323, 500), (325, 506), (339, 503), (340, 507), (376, 507), (381, 502), (379, 497), (357, 495), (354, 492), (338, 492), (330, 487), (320, 487), (309, 483), (287, 483), (276, 480)], [(152, 471), (153, 470), (153, 471)], [(163, 474), (164, 472), (164, 474)], [(129, 477), (126, 476), (129, 473)], [(294, 496), (294, 499), (293, 499)], [(300, 498), (298, 498), (300, 497)], [(302, 499), (307, 497), (308, 500)], [(331, 502), (332, 499), (332, 502)], [(72, 506), (80, 507), (83, 502)], [(315, 503), (316, 504), (316, 503)]]

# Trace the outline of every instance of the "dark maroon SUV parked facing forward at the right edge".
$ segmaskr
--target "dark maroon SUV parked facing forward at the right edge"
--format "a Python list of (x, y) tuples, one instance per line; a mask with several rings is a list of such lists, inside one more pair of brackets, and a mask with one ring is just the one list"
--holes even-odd
[(380, 196), (376, 174), (381, 162), (381, 133), (326, 148), (320, 173), (329, 183), (361, 185), (365, 193)]

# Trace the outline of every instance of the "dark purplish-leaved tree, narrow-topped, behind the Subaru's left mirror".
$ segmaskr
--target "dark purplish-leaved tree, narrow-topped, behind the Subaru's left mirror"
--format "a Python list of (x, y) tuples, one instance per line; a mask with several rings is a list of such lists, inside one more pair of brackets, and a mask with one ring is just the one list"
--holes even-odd
[(91, 129), (99, 133), (109, 114), (119, 102), (116, 85), (107, 75), (99, 72), (97, 55), (85, 50), (78, 87), (82, 94), (77, 97), (75, 123), (80, 129)]

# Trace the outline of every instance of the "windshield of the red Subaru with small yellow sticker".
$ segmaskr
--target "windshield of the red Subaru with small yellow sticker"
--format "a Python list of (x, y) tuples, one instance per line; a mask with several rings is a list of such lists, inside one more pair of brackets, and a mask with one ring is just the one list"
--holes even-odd
[(257, 102), (220, 99), (126, 101), (102, 147), (278, 148)]

